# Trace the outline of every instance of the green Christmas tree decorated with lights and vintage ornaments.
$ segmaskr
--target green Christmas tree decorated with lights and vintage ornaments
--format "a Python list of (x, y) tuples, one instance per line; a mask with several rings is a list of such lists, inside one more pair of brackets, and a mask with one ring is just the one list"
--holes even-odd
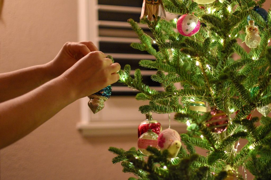
[[(141, 42), (131, 46), (156, 58), (139, 64), (157, 69), (151, 79), (164, 91), (145, 85), (140, 69), (132, 78), (129, 65), (119, 72), (120, 81), (140, 91), (136, 99), (149, 100), (139, 107), (142, 114), (174, 112), (188, 131), (181, 141), (172, 129), (159, 136), (147, 131), (148, 141), (140, 143), (150, 146), (140, 150), (110, 147), (123, 172), (138, 179), (247, 179), (238, 172), (243, 167), (255, 179), (271, 179), (271, 12), (261, 8), (264, 2), (144, 0), (140, 23), (152, 36), (128, 19)], [(163, 9), (179, 19), (166, 21)], [(256, 109), (261, 118), (251, 117)], [(247, 140), (242, 148), (240, 139)]]

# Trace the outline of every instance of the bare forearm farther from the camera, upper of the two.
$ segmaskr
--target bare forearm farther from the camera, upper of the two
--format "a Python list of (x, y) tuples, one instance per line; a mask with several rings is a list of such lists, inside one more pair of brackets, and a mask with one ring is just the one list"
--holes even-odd
[(54, 78), (48, 65), (37, 65), (0, 74), (0, 102), (25, 94)]

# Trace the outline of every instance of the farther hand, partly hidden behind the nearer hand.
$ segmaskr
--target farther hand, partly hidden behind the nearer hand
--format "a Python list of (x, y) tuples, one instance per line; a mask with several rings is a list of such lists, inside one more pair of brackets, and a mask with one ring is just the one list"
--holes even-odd
[(57, 77), (92, 51), (98, 51), (98, 49), (91, 41), (66, 42), (56, 57), (47, 63), (47, 67), (50, 73)]

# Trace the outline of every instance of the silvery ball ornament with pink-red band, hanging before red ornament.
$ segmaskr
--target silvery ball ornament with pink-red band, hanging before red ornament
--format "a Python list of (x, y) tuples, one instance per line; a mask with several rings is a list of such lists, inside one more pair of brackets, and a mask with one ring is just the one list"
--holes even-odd
[(152, 132), (151, 129), (148, 129), (148, 131), (142, 134), (137, 140), (137, 147), (139, 151), (146, 156), (152, 155), (151, 152), (147, 151), (147, 147), (152, 146), (159, 149), (157, 145), (157, 138), (158, 135)]

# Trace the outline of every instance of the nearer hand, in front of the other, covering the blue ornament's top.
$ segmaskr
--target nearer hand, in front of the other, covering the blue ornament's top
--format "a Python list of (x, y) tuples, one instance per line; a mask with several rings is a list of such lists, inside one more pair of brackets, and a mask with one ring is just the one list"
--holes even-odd
[(119, 70), (120, 64), (113, 64), (101, 51), (93, 51), (60, 76), (68, 83), (75, 99), (79, 99), (117, 82)]

